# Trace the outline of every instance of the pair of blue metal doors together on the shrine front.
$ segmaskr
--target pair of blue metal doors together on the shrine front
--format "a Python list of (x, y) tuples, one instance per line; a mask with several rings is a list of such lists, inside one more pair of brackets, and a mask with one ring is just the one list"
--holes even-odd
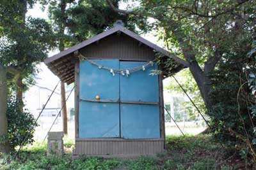
[[(93, 60), (110, 68), (131, 68), (146, 62)], [(83, 60), (79, 73), (79, 138), (159, 138), (157, 64), (129, 76), (109, 73)], [(97, 101), (95, 96), (99, 96)]]

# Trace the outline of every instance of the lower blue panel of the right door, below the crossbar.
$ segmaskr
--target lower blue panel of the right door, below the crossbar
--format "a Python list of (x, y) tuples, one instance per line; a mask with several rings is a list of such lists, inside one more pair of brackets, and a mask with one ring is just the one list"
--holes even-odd
[(121, 104), (120, 106), (122, 138), (160, 138), (158, 105)]

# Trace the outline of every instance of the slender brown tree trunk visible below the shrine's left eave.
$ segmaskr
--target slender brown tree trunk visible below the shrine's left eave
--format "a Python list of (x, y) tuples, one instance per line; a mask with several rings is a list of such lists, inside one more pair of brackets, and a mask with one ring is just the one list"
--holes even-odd
[(62, 109), (63, 132), (64, 134), (68, 134), (66, 92), (65, 92), (65, 83), (63, 81), (61, 81), (61, 107), (63, 107)]

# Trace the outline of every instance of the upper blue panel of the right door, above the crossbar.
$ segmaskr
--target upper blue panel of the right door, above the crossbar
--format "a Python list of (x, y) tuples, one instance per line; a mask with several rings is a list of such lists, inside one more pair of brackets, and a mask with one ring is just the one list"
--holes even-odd
[[(146, 62), (120, 62), (120, 69), (137, 67)], [(146, 70), (136, 71), (129, 76), (120, 75), (120, 100), (121, 101), (159, 101), (158, 76), (149, 75), (152, 69), (157, 69), (157, 64), (146, 67)]]

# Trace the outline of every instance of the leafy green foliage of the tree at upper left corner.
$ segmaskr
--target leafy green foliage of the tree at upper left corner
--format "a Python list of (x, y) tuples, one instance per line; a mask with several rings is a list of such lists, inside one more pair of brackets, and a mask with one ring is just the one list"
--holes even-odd
[[(26, 17), (28, 8), (36, 1), (2, 1), (0, 4), (0, 62), (19, 71), (16, 95), (22, 101), (26, 83), (36, 73), (36, 64), (42, 62), (53, 45), (49, 24), (39, 18)], [(25, 84), (24, 84), (25, 83)]]

